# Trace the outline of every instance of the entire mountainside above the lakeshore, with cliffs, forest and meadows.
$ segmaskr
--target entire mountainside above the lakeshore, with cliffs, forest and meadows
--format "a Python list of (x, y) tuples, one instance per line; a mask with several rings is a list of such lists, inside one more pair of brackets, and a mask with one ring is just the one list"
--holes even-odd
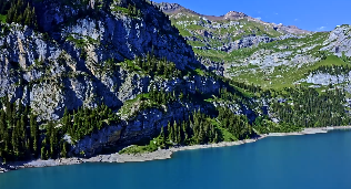
[(0, 6), (2, 160), (91, 157), (130, 145), (141, 146), (120, 153), (152, 151), (351, 123), (349, 25), (308, 32), (146, 0)]

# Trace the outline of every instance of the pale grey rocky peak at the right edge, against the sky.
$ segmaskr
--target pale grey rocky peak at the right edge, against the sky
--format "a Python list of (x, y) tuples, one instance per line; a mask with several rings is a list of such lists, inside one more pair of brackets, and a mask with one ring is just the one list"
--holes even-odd
[(338, 56), (351, 56), (351, 27), (341, 25), (330, 32), (322, 51), (330, 51)]

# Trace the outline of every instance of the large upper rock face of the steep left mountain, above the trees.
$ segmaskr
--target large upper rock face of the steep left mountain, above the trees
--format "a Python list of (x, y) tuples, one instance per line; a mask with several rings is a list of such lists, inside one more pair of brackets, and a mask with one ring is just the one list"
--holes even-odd
[[(114, 2), (111, 10), (123, 3)], [(44, 0), (36, 8), (41, 12), (41, 30), (49, 35), (18, 24), (1, 25), (0, 97), (30, 105), (39, 119), (59, 119), (64, 107), (101, 103), (119, 107), (148, 91), (148, 76), (109, 67), (108, 60), (118, 63), (153, 52), (180, 70), (197, 64), (191, 46), (164, 14), (144, 1), (139, 3), (140, 18), (100, 11), (94, 19), (71, 21), (76, 9)]]

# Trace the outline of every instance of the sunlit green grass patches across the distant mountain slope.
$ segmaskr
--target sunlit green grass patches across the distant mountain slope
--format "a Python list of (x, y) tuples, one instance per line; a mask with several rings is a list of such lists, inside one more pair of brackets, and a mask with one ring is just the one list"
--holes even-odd
[[(239, 22), (240, 24), (237, 25), (230, 25), (228, 28), (222, 29), (205, 29), (204, 27), (197, 25), (193, 22), (201, 21), (202, 18), (199, 18), (198, 15), (192, 15), (190, 13), (184, 13), (184, 17), (180, 17), (174, 19), (174, 17), (171, 17), (172, 23), (179, 29), (180, 33), (183, 36), (195, 36), (199, 41), (188, 41), (188, 43), (192, 46), (204, 46), (209, 45), (212, 48), (218, 48), (223, 44), (223, 42), (228, 41), (219, 41), (217, 39), (204, 39), (203, 35), (199, 34), (199, 30), (205, 30), (208, 32), (211, 32), (213, 36), (220, 38), (223, 35), (230, 35), (231, 40), (238, 40), (242, 38), (243, 35), (255, 33), (257, 35), (268, 35), (271, 38), (277, 38), (282, 35), (282, 33), (279, 33), (278, 31), (265, 28), (265, 25), (248, 21), (247, 19), (241, 19), (235, 22)], [(181, 22), (180, 22), (181, 21)], [(202, 20), (205, 22), (205, 20)], [(215, 24), (228, 24), (230, 21), (217, 21), (212, 22), (212, 25)], [(242, 33), (238, 32), (241, 30)], [(193, 51), (195, 54), (208, 57), (214, 62), (224, 62), (229, 65), (234, 65), (233, 70), (231, 72), (239, 72), (239, 75), (233, 77), (233, 80), (245, 82), (245, 83), (253, 83), (257, 85), (261, 85), (264, 88), (275, 88), (280, 90), (283, 87), (290, 87), (293, 86), (293, 83), (303, 78), (305, 76), (305, 73), (309, 72), (309, 70), (317, 69), (321, 65), (344, 65), (347, 63), (342, 62), (337, 56), (328, 56), (327, 60), (312, 63), (312, 64), (304, 64), (301, 67), (289, 67), (289, 66), (277, 66), (274, 67), (274, 71), (270, 73), (269, 75), (265, 75), (262, 70), (258, 65), (240, 65), (235, 66), (238, 62), (242, 62), (245, 57), (251, 56), (254, 52), (265, 49), (271, 50), (272, 52), (287, 52), (290, 51), (292, 54), (287, 59), (292, 59), (293, 56), (298, 54), (310, 54), (312, 56), (318, 56), (319, 50), (322, 48), (322, 43), (328, 38), (329, 33), (314, 33), (303, 39), (287, 39), (279, 42), (272, 42), (268, 44), (260, 44), (257, 48), (248, 48), (242, 50), (237, 50), (231, 53), (225, 53), (222, 51), (215, 51), (215, 50), (198, 50), (193, 48)], [(279, 46), (287, 45), (289, 46), (288, 50), (280, 50)], [(301, 50), (312, 46), (312, 49), (308, 50), (307, 52), (301, 53)], [(239, 64), (238, 64), (239, 65)], [(252, 71), (255, 72), (252, 72)], [(277, 77), (279, 76), (279, 77)]]

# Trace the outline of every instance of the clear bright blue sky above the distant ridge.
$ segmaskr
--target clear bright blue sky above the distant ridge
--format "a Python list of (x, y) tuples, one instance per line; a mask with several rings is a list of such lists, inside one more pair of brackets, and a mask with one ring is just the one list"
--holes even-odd
[(223, 15), (243, 12), (265, 22), (297, 25), (309, 31), (331, 31), (351, 24), (351, 0), (153, 0), (176, 2), (198, 13)]

